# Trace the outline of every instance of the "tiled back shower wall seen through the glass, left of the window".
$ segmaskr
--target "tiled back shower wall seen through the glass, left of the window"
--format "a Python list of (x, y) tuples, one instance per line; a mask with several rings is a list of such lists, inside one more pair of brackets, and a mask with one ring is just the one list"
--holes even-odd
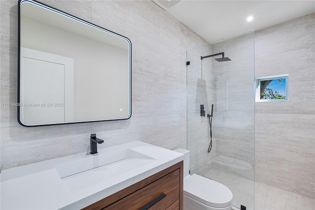
[(213, 63), (212, 168), (250, 180), (254, 179), (253, 46), (253, 31), (213, 45), (214, 53), (224, 52), (231, 61)]

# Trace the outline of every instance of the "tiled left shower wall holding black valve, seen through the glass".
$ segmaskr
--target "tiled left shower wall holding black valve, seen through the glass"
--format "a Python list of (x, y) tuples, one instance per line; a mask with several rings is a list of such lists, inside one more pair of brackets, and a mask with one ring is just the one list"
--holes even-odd
[(201, 55), (212, 51), (205, 45), (187, 51), (187, 145), (190, 151), (190, 174), (204, 175), (209, 171), (208, 118), (200, 116), (204, 105), (205, 116), (213, 102), (212, 61), (201, 62)]

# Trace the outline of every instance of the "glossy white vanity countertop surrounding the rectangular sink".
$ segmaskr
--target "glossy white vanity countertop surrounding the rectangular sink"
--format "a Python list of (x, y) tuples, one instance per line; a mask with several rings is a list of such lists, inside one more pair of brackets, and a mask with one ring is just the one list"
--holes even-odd
[[(139, 162), (138, 159), (133, 159), (135, 165), (128, 164), (126, 159), (109, 164), (106, 168), (99, 167), (64, 178), (61, 178), (58, 167), (56, 169), (56, 166), (64, 163), (73, 165), (72, 161), (81, 161), (91, 156), (95, 162), (99, 155), (116, 150), (119, 152), (124, 148), (150, 158), (140, 158)], [(80, 153), (3, 170), (0, 174), (0, 209), (82, 209), (182, 160), (184, 156), (181, 153), (134, 141), (99, 149), (98, 154), (94, 155), (89, 152)]]

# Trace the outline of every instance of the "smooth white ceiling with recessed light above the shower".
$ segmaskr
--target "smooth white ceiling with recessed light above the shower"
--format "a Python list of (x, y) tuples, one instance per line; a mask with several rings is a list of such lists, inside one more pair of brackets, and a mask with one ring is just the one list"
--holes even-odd
[[(153, 1), (212, 44), (315, 12), (315, 0)], [(249, 16), (251, 22), (246, 20)]]

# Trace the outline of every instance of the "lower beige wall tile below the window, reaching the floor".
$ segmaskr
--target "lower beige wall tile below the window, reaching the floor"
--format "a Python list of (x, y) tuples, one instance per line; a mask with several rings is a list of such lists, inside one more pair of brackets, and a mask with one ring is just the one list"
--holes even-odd
[(255, 181), (314, 199), (315, 116), (256, 113), (255, 118)]

